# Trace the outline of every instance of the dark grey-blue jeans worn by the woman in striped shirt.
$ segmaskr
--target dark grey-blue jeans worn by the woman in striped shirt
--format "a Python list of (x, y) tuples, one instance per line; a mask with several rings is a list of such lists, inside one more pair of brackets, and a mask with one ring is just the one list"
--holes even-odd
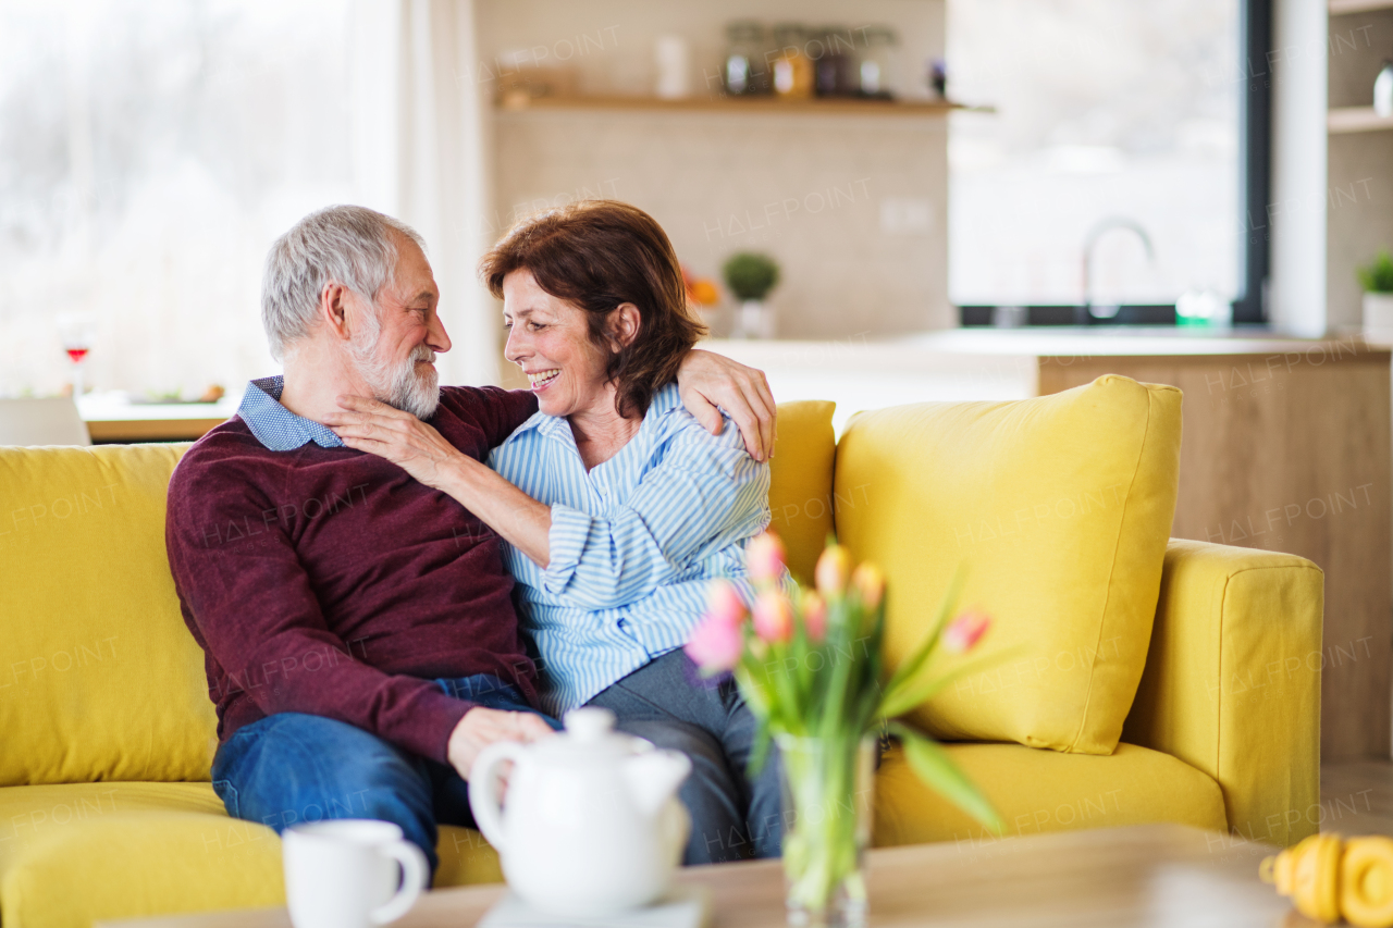
[(612, 711), (624, 732), (691, 758), (692, 775), (681, 789), (692, 818), (684, 863), (779, 856), (779, 751), (770, 745), (763, 768), (747, 775), (756, 725), (734, 680), (699, 680), (687, 655), (670, 651), (588, 705)]

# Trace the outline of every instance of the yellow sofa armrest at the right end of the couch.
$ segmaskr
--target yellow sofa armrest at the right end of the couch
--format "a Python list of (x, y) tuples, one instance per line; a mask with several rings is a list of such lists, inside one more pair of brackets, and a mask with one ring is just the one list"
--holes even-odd
[(1123, 740), (1223, 790), (1237, 837), (1319, 830), (1325, 574), (1304, 557), (1170, 539)]

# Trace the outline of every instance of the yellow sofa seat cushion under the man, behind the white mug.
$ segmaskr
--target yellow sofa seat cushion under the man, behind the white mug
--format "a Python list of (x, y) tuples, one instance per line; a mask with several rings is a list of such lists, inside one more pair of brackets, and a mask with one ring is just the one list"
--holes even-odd
[[(436, 886), (500, 882), (474, 830), (443, 826)], [(281, 906), (280, 839), (228, 818), (208, 783), (64, 783), (0, 789), (0, 924)]]

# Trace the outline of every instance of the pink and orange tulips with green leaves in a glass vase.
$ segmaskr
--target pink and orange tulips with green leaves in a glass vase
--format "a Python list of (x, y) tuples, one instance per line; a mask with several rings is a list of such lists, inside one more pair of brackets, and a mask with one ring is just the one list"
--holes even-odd
[[(705, 674), (734, 674), (759, 723), (751, 765), (763, 764), (770, 740), (780, 747), (786, 805), (794, 805), (784, 810), (790, 911), (819, 921), (836, 902), (853, 915), (859, 904), (864, 917), (861, 850), (869, 837), (871, 772), (858, 764), (858, 754), (868, 754), (869, 738), (883, 733), (898, 738), (910, 768), (929, 787), (1000, 829), (990, 803), (947, 751), (894, 720), (990, 662), (929, 672), (939, 651), (970, 652), (990, 620), (979, 612), (950, 620), (963, 587), (958, 571), (924, 640), (886, 677), (880, 654), (886, 588), (875, 564), (853, 569), (851, 552), (830, 542), (818, 560), (815, 588), (804, 589), (788, 578), (783, 543), (770, 532), (749, 541), (745, 564), (754, 602), (747, 608), (734, 584), (713, 581), (687, 654)], [(837, 815), (837, 810), (857, 814)]]

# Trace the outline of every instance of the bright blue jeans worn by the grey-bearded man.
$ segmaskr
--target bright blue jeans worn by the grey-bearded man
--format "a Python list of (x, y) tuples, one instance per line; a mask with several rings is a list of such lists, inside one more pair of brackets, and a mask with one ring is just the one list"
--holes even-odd
[[(492, 674), (435, 683), (490, 709), (535, 712), (513, 684)], [(262, 822), (277, 835), (327, 818), (394, 822), (425, 851), (432, 875), (440, 863), (436, 823), (474, 826), (468, 784), (453, 766), (347, 722), (302, 712), (277, 712), (237, 729), (213, 757), (213, 790), (228, 815)]]

